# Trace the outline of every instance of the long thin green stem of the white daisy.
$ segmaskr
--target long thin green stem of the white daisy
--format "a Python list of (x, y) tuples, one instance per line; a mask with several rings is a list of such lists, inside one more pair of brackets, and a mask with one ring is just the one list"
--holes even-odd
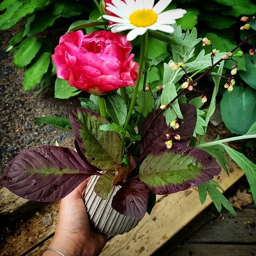
[(120, 160), (121, 161), (123, 159), (123, 154), (124, 154), (124, 140), (125, 140), (126, 130), (127, 130), (130, 118), (132, 116), (132, 110), (134, 108), (134, 105), (135, 105), (135, 102), (136, 102), (136, 99), (137, 99), (137, 93), (138, 93), (139, 86), (140, 86), (141, 73), (142, 73), (142, 68), (143, 68), (143, 64), (144, 64), (145, 37), (146, 36), (144, 34), (141, 38), (140, 63), (139, 63), (140, 68), (139, 68), (138, 77), (137, 77), (137, 80), (136, 80), (136, 86), (134, 88), (134, 93), (133, 93), (133, 96), (132, 96), (132, 101), (131, 101), (131, 104), (130, 104), (129, 112), (127, 114), (126, 121), (125, 121), (125, 124), (124, 124), (124, 129), (123, 129), (124, 133), (122, 134), (122, 143), (121, 143), (121, 151), (120, 151)]

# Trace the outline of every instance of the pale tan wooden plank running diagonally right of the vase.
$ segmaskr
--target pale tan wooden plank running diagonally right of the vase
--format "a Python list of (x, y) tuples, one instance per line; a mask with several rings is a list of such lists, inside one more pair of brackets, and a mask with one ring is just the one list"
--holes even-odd
[[(223, 170), (217, 178), (224, 190), (244, 175), (234, 162), (231, 165), (234, 171), (230, 173), (230, 178)], [(201, 205), (198, 192), (193, 188), (164, 197), (153, 208), (150, 216), (146, 216), (136, 228), (111, 239), (100, 256), (151, 255), (211, 202), (208, 196)]]

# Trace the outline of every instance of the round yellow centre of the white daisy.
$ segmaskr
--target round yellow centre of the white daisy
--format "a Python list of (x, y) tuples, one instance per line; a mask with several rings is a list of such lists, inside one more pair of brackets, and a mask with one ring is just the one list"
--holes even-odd
[(136, 10), (130, 15), (129, 20), (136, 27), (146, 28), (156, 23), (157, 14), (152, 9)]

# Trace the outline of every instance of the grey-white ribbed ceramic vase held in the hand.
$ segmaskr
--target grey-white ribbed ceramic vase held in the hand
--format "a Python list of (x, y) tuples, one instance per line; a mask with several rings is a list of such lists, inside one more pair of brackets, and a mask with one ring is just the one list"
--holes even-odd
[(114, 186), (107, 200), (97, 196), (94, 192), (94, 185), (99, 177), (92, 176), (84, 192), (84, 202), (91, 224), (96, 230), (108, 236), (129, 232), (138, 225), (140, 219), (124, 216), (112, 208), (112, 199), (119, 189), (117, 186)]

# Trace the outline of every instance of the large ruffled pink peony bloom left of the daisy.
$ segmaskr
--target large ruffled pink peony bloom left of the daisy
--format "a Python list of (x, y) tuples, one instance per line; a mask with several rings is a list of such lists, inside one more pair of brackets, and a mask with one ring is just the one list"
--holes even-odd
[(134, 86), (138, 63), (126, 36), (107, 31), (84, 35), (82, 30), (60, 38), (52, 60), (57, 76), (77, 89), (100, 95)]

